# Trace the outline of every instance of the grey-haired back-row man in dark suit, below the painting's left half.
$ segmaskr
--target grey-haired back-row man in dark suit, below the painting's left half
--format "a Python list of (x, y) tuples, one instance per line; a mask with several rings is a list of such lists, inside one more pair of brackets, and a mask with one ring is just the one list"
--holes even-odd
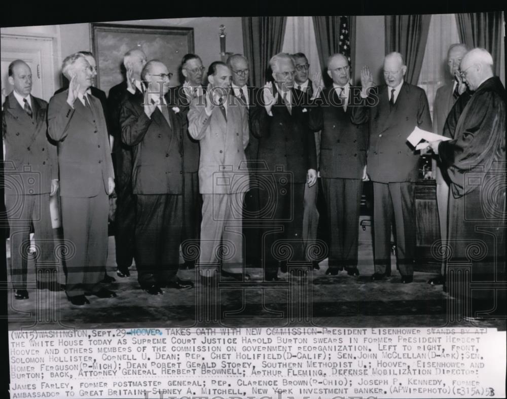
[(113, 162), (116, 172), (115, 247), (118, 277), (130, 276), (134, 259), (135, 198), (132, 194), (132, 149), (122, 143), (120, 112), (129, 98), (142, 98), (141, 70), (146, 54), (140, 49), (125, 53), (123, 64), (126, 79), (113, 86), (107, 99), (110, 111), (110, 131), (113, 137)]

